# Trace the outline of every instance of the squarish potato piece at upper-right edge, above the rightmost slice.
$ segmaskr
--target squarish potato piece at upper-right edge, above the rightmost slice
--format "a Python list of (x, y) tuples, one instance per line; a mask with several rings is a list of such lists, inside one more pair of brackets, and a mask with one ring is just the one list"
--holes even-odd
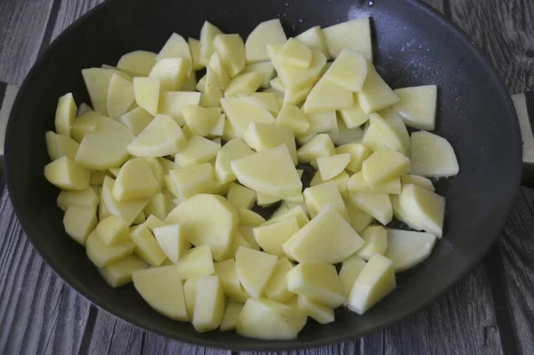
[(396, 89), (399, 102), (393, 105), (406, 125), (410, 127), (433, 131), (436, 125), (436, 101), (438, 87), (424, 85)]

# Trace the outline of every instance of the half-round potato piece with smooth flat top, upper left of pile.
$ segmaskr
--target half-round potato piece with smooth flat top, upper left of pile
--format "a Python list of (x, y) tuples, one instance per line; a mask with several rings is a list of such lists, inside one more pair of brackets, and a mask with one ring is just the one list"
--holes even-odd
[(171, 117), (158, 115), (128, 145), (128, 152), (137, 157), (165, 157), (186, 144), (180, 126)]

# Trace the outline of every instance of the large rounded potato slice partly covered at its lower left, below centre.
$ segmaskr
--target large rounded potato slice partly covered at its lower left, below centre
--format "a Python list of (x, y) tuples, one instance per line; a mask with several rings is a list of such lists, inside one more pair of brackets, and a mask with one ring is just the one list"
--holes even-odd
[(192, 245), (210, 246), (214, 259), (220, 261), (230, 252), (239, 218), (226, 198), (198, 194), (176, 206), (165, 222), (182, 224)]

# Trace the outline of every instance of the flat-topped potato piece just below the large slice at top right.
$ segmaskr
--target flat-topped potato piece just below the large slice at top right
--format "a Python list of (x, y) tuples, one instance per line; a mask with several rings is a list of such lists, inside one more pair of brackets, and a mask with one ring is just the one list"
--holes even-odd
[(344, 49), (323, 77), (333, 84), (357, 93), (361, 91), (367, 73), (366, 58), (359, 52)]

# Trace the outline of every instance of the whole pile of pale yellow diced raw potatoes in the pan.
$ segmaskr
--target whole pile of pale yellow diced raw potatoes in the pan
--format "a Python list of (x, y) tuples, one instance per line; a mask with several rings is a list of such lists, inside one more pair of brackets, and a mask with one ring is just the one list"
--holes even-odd
[[(291, 339), (363, 314), (441, 238), (428, 178), (459, 169), (428, 132), (437, 89), (384, 82), (368, 18), (289, 39), (269, 20), (246, 42), (206, 21), (82, 75), (94, 110), (68, 93), (46, 133), (65, 230), (110, 286), (199, 332)], [(317, 169), (305, 190), (298, 163)]]

